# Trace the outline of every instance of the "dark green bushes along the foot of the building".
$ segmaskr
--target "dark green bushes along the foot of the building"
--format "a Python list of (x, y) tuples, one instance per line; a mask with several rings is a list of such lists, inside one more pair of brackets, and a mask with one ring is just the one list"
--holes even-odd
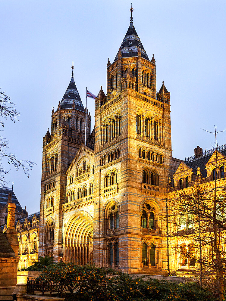
[(66, 301), (215, 300), (209, 291), (193, 282), (176, 284), (157, 279), (143, 280), (112, 269), (106, 270), (94, 265), (78, 266), (71, 262), (46, 266), (38, 280), (60, 284), (62, 290), (58, 293), (67, 293)]

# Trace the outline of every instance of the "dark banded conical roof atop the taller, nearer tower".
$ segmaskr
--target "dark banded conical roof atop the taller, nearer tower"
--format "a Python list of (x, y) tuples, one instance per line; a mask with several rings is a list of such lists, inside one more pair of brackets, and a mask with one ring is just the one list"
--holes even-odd
[[(143, 48), (143, 45), (140, 41), (140, 38), (136, 32), (135, 27), (133, 26), (133, 17), (130, 18), (130, 26), (127, 30), (127, 33), (122, 41), (121, 47), (119, 48), (122, 54), (122, 57), (136, 57), (138, 52), (138, 47), (140, 47), (141, 57), (149, 61), (148, 55)], [(117, 60), (118, 55), (115, 57)]]

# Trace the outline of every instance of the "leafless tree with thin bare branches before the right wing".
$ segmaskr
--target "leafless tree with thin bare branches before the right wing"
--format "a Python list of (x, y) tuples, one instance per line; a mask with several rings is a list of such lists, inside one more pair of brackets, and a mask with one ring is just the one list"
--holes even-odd
[(226, 186), (219, 173), (225, 160), (217, 150), (217, 133), (215, 127), (214, 175), (197, 175), (190, 187), (175, 189), (168, 199), (168, 220), (172, 257), (180, 258), (182, 266), (196, 265), (201, 285), (211, 285), (224, 300)]

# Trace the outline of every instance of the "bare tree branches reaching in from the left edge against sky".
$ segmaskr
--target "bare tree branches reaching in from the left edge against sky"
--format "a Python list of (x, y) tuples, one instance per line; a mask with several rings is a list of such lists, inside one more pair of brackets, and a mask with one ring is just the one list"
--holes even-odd
[[(19, 112), (15, 109), (15, 104), (11, 102), (10, 97), (5, 92), (0, 92), (0, 125), (4, 127), (4, 120), (9, 118), (14, 123), (19, 121)], [(32, 170), (33, 165), (36, 164), (29, 160), (18, 160), (16, 155), (8, 152), (9, 144), (6, 138), (0, 135), (0, 181), (5, 182), (5, 175), (10, 171), (4, 166), (2, 160), (6, 158), (8, 164), (11, 164), (17, 171), (23, 169), (24, 173), (29, 177), (29, 172)]]

